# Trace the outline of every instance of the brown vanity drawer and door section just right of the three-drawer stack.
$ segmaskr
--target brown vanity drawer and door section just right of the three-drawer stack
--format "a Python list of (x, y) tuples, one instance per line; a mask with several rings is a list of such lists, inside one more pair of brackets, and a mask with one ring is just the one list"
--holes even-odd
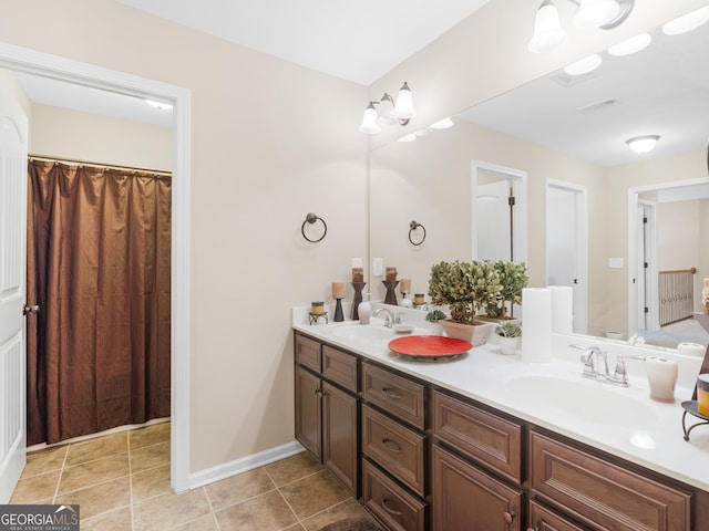
[(524, 529), (522, 424), (433, 392), (432, 530)]

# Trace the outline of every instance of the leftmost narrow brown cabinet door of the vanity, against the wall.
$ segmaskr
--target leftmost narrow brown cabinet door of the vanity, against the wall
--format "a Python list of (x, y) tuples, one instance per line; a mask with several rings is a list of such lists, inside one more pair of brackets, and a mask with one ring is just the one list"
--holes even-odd
[(320, 451), (320, 378), (302, 367), (296, 366), (296, 439), (316, 455)]

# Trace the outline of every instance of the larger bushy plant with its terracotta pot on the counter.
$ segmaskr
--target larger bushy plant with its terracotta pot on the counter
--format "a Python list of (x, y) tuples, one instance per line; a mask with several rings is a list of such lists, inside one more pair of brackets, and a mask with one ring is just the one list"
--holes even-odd
[(429, 295), (436, 305), (448, 305), (450, 319), (441, 326), (451, 337), (470, 341), (473, 345), (485, 343), (494, 324), (476, 317), (493, 304), (502, 290), (493, 262), (489, 260), (440, 262), (431, 268)]

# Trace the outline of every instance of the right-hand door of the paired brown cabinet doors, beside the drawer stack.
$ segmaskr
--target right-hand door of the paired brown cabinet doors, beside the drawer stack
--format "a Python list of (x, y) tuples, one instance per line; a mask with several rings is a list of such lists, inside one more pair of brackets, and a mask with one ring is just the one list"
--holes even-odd
[(357, 473), (357, 398), (322, 383), (322, 464), (354, 494)]

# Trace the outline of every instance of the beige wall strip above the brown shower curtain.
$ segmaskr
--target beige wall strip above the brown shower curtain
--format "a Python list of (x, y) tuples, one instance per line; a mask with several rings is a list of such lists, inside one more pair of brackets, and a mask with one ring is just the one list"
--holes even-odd
[(30, 154), (171, 170), (172, 129), (35, 104)]

